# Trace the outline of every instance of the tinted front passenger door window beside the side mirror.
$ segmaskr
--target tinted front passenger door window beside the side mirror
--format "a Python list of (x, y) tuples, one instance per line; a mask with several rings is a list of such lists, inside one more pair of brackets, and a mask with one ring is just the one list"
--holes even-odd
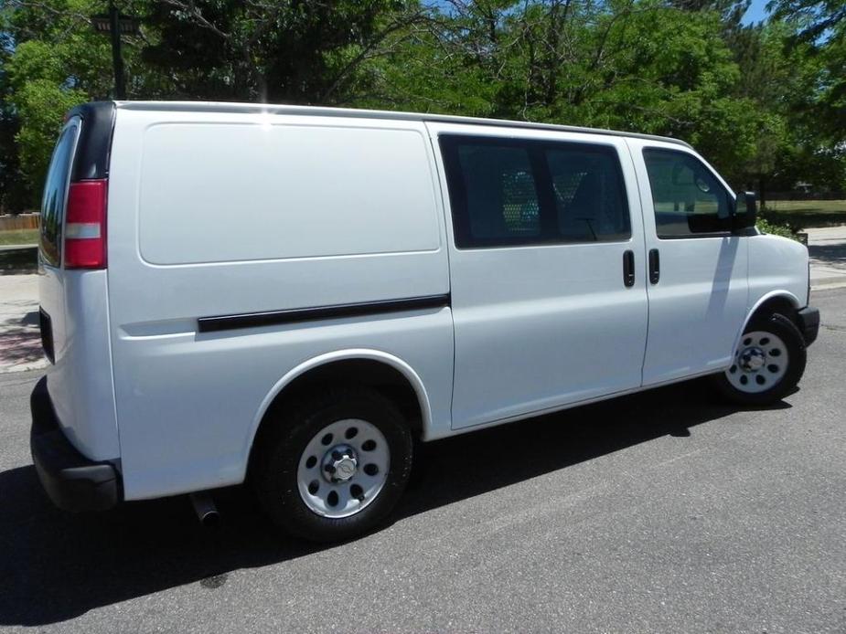
[(655, 148), (644, 150), (643, 155), (659, 238), (731, 231), (729, 193), (700, 160), (688, 153)]

